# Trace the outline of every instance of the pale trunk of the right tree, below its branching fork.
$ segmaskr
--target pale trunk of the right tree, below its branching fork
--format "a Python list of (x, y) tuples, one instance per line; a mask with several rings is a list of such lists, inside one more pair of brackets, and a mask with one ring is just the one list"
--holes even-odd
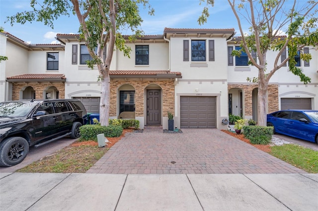
[(268, 83), (266, 81), (258, 81), (258, 93), (257, 93), (257, 125), (266, 126), (266, 94)]

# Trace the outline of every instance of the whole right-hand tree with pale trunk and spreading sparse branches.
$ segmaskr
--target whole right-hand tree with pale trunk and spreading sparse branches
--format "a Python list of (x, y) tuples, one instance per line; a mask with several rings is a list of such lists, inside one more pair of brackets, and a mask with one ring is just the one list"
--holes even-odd
[[(207, 22), (209, 7), (214, 6), (214, 0), (206, 2), (199, 24)], [(300, 67), (296, 66), (295, 56), (300, 53), (301, 59), (309, 61), (311, 54), (304, 52), (305, 46), (315, 48), (318, 45), (318, 2), (315, 0), (228, 0), (237, 19), (241, 40), (238, 45), (242, 48), (233, 51), (232, 55), (239, 56), (245, 52), (249, 64), (258, 69), (258, 77), (247, 78), (258, 83), (258, 125), (266, 125), (266, 91), (268, 82), (273, 74), (288, 63), (289, 70), (299, 76), (304, 84), (310, 83)], [(243, 23), (249, 25), (249, 33), (244, 33)], [(282, 36), (283, 35), (283, 36)], [(316, 47), (317, 48), (317, 47)], [(266, 53), (277, 52), (274, 65), (268, 66)], [(281, 55), (288, 52), (281, 61)], [(256, 53), (256, 57), (252, 56)]]

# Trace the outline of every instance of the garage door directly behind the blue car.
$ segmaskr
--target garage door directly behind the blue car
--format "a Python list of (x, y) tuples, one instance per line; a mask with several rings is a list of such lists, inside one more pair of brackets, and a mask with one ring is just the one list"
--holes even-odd
[(312, 109), (311, 98), (281, 98), (281, 109)]

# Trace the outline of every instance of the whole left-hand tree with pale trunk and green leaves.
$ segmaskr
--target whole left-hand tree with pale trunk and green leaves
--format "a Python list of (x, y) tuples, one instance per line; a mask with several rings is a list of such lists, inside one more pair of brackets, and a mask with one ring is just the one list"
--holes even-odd
[[(109, 67), (114, 49), (129, 56), (131, 48), (126, 46), (122, 31), (131, 32), (129, 41), (143, 35), (140, 29), (142, 18), (139, 7), (154, 9), (148, 0), (30, 0), (32, 11), (24, 11), (7, 17), (7, 21), (24, 24), (27, 21), (43, 22), (44, 25), (54, 28), (54, 20), (60, 16), (76, 15), (79, 20), (80, 38), (85, 40), (88, 52), (93, 58), (87, 65), (93, 68), (97, 65), (99, 80), (101, 81), (100, 122), (108, 125), (110, 78)], [(107, 44), (106, 57), (103, 58), (103, 49)]]

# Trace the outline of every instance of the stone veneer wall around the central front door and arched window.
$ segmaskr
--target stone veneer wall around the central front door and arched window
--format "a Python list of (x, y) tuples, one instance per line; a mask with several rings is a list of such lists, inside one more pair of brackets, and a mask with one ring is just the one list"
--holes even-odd
[[(162, 92), (162, 115), (168, 116), (167, 111), (171, 111), (174, 115), (174, 80), (139, 80), (139, 79), (110, 79), (110, 116), (118, 116), (117, 114), (117, 96), (118, 88), (124, 84), (130, 84), (135, 88), (135, 116), (144, 116), (144, 107), (146, 88), (150, 84), (157, 84), (161, 87)], [(156, 89), (156, 88), (154, 88)]]

